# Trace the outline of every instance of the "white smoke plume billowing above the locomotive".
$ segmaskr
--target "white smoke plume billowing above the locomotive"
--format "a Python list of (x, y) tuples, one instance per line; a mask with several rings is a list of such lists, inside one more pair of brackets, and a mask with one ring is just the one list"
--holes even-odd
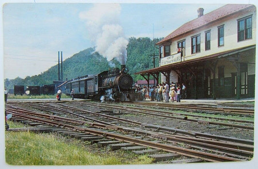
[(86, 21), (87, 31), (96, 45), (96, 51), (106, 57), (107, 61), (116, 58), (121, 65), (125, 65), (128, 40), (119, 25), (120, 13), (120, 4), (97, 3), (79, 16)]

